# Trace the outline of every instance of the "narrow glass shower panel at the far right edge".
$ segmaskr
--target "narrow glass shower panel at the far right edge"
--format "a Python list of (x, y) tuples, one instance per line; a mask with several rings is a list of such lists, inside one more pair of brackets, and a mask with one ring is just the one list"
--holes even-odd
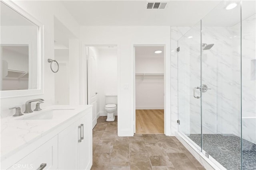
[(256, 2), (242, 1), (242, 169), (256, 169)]

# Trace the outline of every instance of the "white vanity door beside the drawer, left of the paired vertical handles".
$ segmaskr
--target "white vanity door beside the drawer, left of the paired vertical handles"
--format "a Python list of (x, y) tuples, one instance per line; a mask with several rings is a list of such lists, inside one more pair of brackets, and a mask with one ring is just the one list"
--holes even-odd
[(58, 169), (76, 170), (78, 161), (78, 123), (58, 134)]

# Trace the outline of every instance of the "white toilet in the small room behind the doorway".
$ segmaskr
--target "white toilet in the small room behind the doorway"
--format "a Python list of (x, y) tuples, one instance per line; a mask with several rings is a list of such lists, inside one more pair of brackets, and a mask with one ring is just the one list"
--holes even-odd
[(106, 121), (114, 121), (114, 113), (117, 107), (117, 95), (106, 95), (105, 111), (108, 113)]

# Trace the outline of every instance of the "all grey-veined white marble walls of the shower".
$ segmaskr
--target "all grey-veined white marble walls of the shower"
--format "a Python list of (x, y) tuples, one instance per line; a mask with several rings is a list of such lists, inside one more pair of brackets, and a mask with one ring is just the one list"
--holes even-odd
[[(214, 46), (202, 51), (202, 84), (211, 88), (202, 93), (202, 131), (240, 137), (240, 23), (232, 27), (204, 27), (203, 22), (202, 43), (214, 43)], [(172, 132), (178, 130), (176, 120), (180, 119), (179, 131), (186, 134), (200, 133), (200, 103), (195, 102), (198, 99), (193, 97), (193, 88), (200, 86), (200, 51), (195, 46), (198, 42), (200, 44), (200, 37), (195, 36), (197, 33), (193, 29), (196, 30), (191, 27), (171, 27)], [(188, 39), (189, 36), (193, 38)], [(178, 46), (179, 53), (176, 52)], [(242, 21), (242, 135), (252, 143), (256, 143), (255, 61), (253, 15)]]

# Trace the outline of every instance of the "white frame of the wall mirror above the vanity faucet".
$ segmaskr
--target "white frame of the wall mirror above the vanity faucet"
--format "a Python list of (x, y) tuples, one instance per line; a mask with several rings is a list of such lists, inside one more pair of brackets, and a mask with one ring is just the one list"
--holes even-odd
[(36, 20), (32, 15), (20, 8), (10, 0), (1, 0), (12, 10), (38, 26), (38, 89), (30, 90), (4, 90), (0, 91), (0, 98), (11, 98), (20, 96), (31, 96), (44, 94), (44, 25)]

